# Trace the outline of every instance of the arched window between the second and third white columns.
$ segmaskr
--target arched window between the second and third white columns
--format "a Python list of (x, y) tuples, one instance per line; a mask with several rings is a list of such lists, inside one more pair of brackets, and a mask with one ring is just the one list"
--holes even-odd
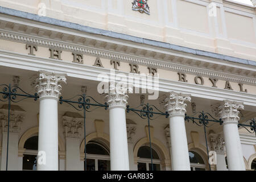
[[(142, 146), (138, 150), (138, 171), (151, 171), (150, 147)], [(160, 158), (158, 153), (152, 148), (152, 162), (154, 171), (160, 171)]]

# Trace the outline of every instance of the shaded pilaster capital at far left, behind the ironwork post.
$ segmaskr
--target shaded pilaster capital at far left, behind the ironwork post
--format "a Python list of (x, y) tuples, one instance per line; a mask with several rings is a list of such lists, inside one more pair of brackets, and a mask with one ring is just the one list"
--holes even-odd
[[(9, 132), (19, 133), (21, 124), (24, 120), (25, 111), (17, 106), (11, 105), (9, 117)], [(8, 105), (5, 104), (0, 109), (0, 128), (3, 132), (8, 131)]]

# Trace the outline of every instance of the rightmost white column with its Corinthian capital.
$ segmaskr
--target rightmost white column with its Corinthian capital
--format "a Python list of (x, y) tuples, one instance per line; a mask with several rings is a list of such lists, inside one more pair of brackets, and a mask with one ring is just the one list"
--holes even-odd
[(243, 109), (242, 103), (226, 100), (219, 106), (220, 117), (223, 121), (229, 171), (245, 171), (245, 163), (243, 162), (242, 147), (237, 126), (239, 120), (239, 111), (237, 109)]

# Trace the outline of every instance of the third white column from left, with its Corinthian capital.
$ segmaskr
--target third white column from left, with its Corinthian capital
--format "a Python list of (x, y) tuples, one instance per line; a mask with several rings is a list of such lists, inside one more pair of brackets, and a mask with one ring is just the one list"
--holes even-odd
[(191, 101), (191, 97), (171, 92), (164, 100), (166, 110), (170, 114), (170, 138), (172, 170), (190, 171), (188, 142), (185, 130), (185, 101)]

